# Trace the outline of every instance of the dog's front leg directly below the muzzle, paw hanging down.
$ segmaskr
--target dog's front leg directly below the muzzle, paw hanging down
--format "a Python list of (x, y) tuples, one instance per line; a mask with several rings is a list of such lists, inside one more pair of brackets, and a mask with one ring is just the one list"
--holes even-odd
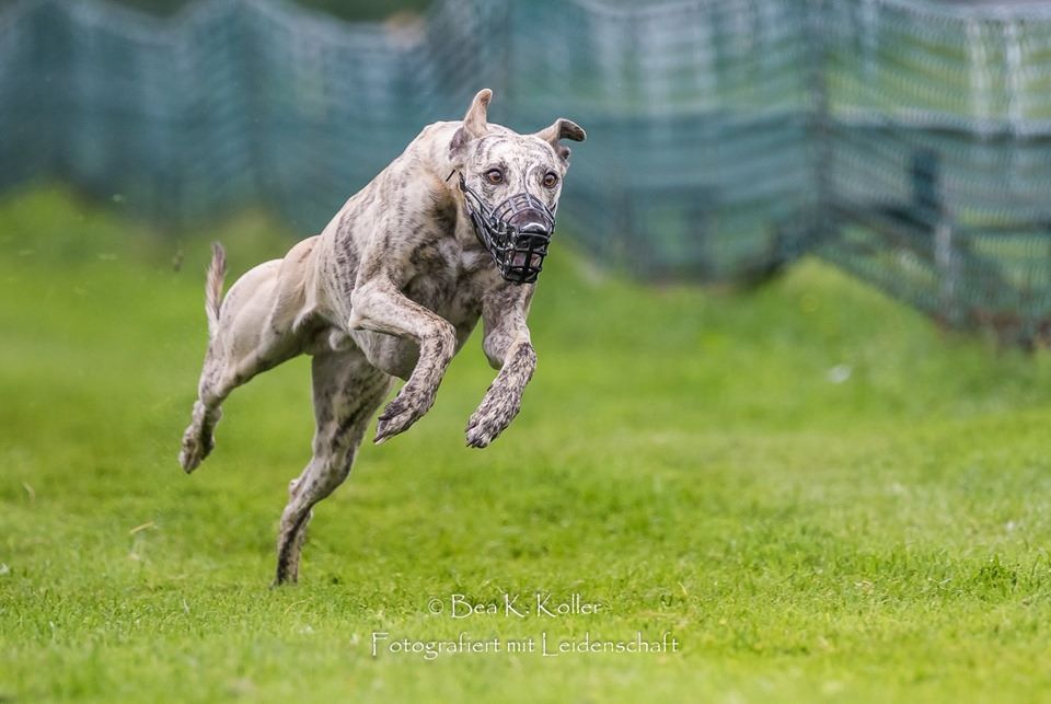
[(482, 300), (485, 356), (500, 372), (467, 422), (467, 445), (484, 448), (503, 432), (522, 406), (522, 392), (536, 369), (526, 316), (532, 286), (506, 287)]

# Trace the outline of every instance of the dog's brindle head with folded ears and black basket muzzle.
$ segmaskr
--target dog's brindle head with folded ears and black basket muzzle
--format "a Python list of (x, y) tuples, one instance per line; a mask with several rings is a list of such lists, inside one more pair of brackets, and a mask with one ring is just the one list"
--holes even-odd
[(563, 139), (584, 141), (565, 118), (533, 135), (519, 135), (487, 117), (493, 91), (474, 96), (449, 143), (460, 188), (478, 238), (509, 281), (536, 280), (555, 226), (562, 180), (569, 169)]

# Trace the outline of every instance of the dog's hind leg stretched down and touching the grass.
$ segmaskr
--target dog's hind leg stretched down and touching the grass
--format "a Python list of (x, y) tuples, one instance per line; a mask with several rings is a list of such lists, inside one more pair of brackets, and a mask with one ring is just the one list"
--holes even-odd
[(372, 414), (391, 389), (392, 378), (355, 348), (313, 358), (313, 457), (288, 486), (288, 506), (277, 539), (276, 585), (294, 582), (311, 509), (347, 478)]

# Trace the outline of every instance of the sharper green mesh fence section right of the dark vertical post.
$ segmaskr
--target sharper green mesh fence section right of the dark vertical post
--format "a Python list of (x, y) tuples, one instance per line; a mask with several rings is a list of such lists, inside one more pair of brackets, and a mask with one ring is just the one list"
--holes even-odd
[(952, 325), (1051, 334), (1051, 3), (830, 5), (822, 253)]

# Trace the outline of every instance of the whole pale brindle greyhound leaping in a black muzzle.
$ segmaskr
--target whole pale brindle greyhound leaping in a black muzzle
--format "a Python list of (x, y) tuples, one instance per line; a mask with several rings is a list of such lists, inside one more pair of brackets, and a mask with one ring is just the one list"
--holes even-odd
[(427, 413), (478, 318), (499, 372), (467, 423), (467, 446), (488, 446), (518, 414), (536, 366), (526, 318), (569, 166), (561, 140), (586, 135), (565, 118), (533, 135), (490, 124), (492, 96), (480, 91), (461, 122), (425, 127), (321, 234), (251, 269), (226, 298), (226, 255), (213, 245), (209, 344), (183, 469), (215, 447), (220, 405), (235, 388), (313, 357), (313, 457), (289, 483), (277, 585), (297, 581), (312, 509), (347, 478), (394, 378), (405, 384), (379, 416), (377, 443)]

